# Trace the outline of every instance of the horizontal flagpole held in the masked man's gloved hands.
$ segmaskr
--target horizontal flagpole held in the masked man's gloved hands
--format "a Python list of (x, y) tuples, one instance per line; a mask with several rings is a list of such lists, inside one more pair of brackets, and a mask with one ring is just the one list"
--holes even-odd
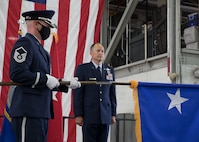
[[(109, 81), (109, 82), (101, 82), (101, 81), (79, 81), (82, 85), (131, 85), (130, 82), (115, 82), (115, 81)], [(70, 81), (60, 81), (61, 85), (70, 85)], [(17, 86), (17, 85), (25, 85), (21, 83), (16, 82), (0, 82), (0, 86)]]

